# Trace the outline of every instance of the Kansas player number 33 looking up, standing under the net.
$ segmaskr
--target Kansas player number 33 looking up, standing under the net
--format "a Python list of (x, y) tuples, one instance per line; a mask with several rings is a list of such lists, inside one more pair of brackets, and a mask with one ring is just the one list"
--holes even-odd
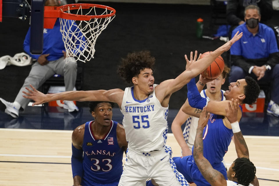
[(128, 146), (125, 130), (111, 120), (112, 103), (94, 101), (89, 108), (94, 121), (78, 126), (72, 134), (74, 186), (117, 186)]

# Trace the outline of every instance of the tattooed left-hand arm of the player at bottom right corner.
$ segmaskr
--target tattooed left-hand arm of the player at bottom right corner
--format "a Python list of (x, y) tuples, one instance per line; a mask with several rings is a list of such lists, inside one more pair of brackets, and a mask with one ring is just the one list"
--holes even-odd
[(227, 185), (227, 181), (223, 174), (213, 169), (209, 161), (203, 156), (203, 128), (206, 126), (209, 119), (209, 113), (206, 114), (206, 106), (203, 108), (194, 142), (193, 157), (198, 169), (203, 177), (213, 186)]

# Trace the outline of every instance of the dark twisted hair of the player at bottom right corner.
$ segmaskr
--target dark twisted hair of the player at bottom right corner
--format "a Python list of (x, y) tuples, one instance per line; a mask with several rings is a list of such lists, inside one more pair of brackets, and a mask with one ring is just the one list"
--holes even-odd
[(232, 170), (235, 172), (237, 183), (248, 186), (254, 180), (256, 167), (248, 158), (237, 158)]

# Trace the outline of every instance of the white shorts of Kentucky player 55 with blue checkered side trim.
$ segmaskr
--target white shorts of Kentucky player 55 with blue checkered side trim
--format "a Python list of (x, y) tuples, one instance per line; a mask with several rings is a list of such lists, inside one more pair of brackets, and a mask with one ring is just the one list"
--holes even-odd
[(171, 158), (171, 148), (149, 153), (135, 151), (128, 147), (126, 162), (118, 186), (145, 186), (148, 178), (160, 186), (186, 186), (184, 176), (176, 170)]

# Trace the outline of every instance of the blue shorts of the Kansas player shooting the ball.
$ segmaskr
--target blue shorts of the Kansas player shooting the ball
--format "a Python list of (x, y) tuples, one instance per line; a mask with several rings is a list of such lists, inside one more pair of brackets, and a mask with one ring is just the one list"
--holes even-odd
[[(176, 164), (176, 169), (183, 174), (188, 183), (195, 183), (197, 186), (210, 186), (210, 183), (203, 178), (203, 175), (198, 170), (196, 163), (194, 162), (194, 158), (192, 155), (172, 158), (174, 163)], [(227, 180), (227, 171), (222, 162), (215, 164), (212, 166), (215, 170), (221, 172), (225, 179)]]

